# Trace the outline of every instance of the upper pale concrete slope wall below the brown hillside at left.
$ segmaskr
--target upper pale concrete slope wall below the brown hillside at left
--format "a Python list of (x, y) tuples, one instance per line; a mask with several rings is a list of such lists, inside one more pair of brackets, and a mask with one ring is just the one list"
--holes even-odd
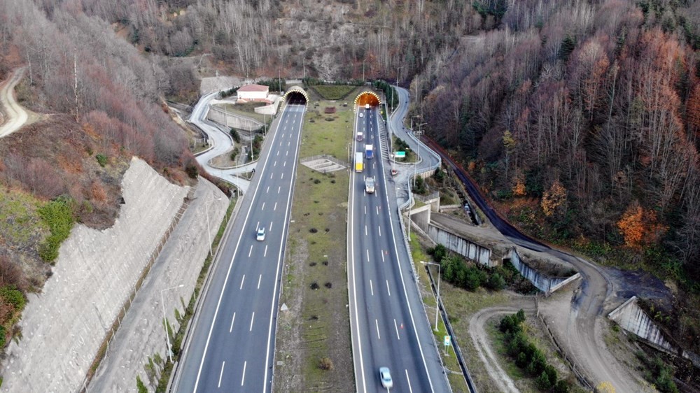
[(83, 387), (107, 331), (188, 192), (135, 158), (122, 189), (125, 204), (113, 227), (76, 225), (41, 294), (28, 295), (22, 338), (10, 343), (3, 362), (2, 392)]

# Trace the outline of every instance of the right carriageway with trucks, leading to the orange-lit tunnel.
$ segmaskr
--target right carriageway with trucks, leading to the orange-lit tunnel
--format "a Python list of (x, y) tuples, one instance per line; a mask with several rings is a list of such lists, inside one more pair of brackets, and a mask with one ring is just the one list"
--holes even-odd
[[(363, 113), (363, 117), (359, 117)], [(362, 173), (353, 172), (348, 219), (349, 308), (358, 392), (386, 392), (379, 367), (391, 369), (393, 392), (449, 392), (398, 222), (395, 185), (386, 179), (377, 110), (358, 108), (355, 151), (374, 145)], [(380, 141), (381, 140), (381, 141)], [(354, 157), (354, 155), (352, 155)], [(377, 179), (373, 194), (365, 178)], [(396, 243), (396, 240), (401, 243)]]

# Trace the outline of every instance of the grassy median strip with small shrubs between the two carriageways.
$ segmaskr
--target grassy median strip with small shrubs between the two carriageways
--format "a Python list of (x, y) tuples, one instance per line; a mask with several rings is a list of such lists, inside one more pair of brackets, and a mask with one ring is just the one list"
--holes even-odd
[[(300, 159), (347, 161), (352, 110), (320, 101), (304, 117)], [(354, 390), (347, 309), (347, 170), (297, 166), (276, 342), (275, 392)]]

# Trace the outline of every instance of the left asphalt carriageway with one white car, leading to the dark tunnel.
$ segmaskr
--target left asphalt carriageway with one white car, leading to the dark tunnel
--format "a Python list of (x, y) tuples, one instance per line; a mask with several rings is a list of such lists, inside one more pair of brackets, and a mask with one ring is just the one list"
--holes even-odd
[[(174, 392), (270, 392), (279, 285), (305, 105), (288, 103), (218, 253)], [(265, 227), (265, 240), (256, 229)]]

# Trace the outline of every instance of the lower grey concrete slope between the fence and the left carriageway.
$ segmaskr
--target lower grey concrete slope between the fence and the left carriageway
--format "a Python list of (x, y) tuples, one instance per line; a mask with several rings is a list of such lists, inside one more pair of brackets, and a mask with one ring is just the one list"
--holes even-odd
[(168, 353), (162, 300), (168, 323), (177, 331), (180, 326), (175, 310), (184, 315), (209, 252), (208, 229), (215, 236), (227, 207), (228, 199), (223, 192), (200, 178), (193, 201), (134, 297), (88, 392), (136, 392), (137, 375), (148, 385), (144, 371), (148, 357), (158, 353), (166, 359)]

